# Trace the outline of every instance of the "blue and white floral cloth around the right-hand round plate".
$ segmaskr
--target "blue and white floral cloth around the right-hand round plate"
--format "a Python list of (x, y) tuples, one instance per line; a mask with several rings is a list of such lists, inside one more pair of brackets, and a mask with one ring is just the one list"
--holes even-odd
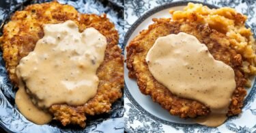
[[(128, 31), (132, 24), (145, 12), (158, 5), (177, 0), (125, 0), (124, 3), (124, 31)], [(256, 33), (256, 1), (255, 0), (197, 0), (210, 3), (218, 7), (235, 8), (238, 12), (248, 16), (247, 25)], [(254, 89), (255, 90), (255, 89)], [(124, 119), (127, 132), (256, 132), (256, 96), (248, 100), (242, 109), (242, 118), (232, 117), (221, 128), (207, 128), (205, 126), (193, 126), (171, 124), (166, 125), (161, 121), (148, 117), (124, 95)]]

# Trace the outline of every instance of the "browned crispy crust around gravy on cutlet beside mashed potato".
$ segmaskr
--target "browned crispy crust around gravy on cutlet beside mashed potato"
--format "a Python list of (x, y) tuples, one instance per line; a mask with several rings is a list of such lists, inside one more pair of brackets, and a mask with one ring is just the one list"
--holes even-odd
[(149, 29), (141, 31), (127, 46), (127, 68), (130, 78), (137, 78), (139, 89), (145, 95), (150, 95), (154, 102), (158, 102), (162, 108), (169, 110), (172, 115), (180, 117), (197, 117), (208, 115), (210, 108), (195, 100), (178, 98), (169, 89), (158, 83), (150, 73), (145, 57), (158, 37), (171, 33), (185, 32), (195, 37), (208, 46), (214, 59), (230, 65), (236, 74), (236, 91), (232, 95), (232, 101), (227, 115), (236, 115), (241, 112), (246, 90), (244, 84), (246, 78), (240, 70), (242, 57), (235, 50), (229, 48), (229, 40), (223, 33), (210, 29), (206, 25), (198, 23), (170, 21), (167, 18), (153, 19), (154, 24)]

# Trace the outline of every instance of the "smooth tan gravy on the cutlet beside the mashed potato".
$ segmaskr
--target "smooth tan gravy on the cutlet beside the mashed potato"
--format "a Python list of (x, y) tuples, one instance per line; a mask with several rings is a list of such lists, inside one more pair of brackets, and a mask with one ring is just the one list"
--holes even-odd
[(215, 60), (195, 36), (178, 33), (158, 38), (146, 61), (154, 78), (172, 93), (210, 107), (211, 114), (198, 123), (217, 126), (225, 121), (236, 89), (234, 71)]

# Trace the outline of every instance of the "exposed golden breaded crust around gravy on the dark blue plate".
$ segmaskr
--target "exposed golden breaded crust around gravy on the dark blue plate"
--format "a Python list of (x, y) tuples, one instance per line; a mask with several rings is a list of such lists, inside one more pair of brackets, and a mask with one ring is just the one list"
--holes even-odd
[(57, 2), (29, 5), (25, 10), (16, 12), (5, 25), (0, 39), (1, 48), (10, 79), (17, 86), (15, 68), (20, 59), (27, 56), (35, 43), (44, 36), (42, 25), (63, 23), (66, 20), (76, 22), (80, 31), (94, 27), (107, 40), (104, 61), (97, 70), (100, 83), (96, 96), (83, 106), (55, 104), (49, 108), (54, 119), (61, 121), (63, 125), (73, 123), (85, 127), (85, 115), (108, 113), (111, 103), (122, 97), (124, 87), (124, 59), (122, 50), (117, 46), (118, 33), (105, 14), (79, 14), (72, 6)]

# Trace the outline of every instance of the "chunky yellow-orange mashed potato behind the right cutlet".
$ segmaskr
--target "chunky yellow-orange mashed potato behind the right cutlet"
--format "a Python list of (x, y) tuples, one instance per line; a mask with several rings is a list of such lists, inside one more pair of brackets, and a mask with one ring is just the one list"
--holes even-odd
[(210, 9), (197, 3), (188, 3), (183, 11), (170, 11), (170, 13), (173, 15), (173, 20), (203, 23), (225, 33), (229, 38), (230, 46), (242, 55), (244, 73), (256, 74), (255, 39), (251, 29), (244, 25), (246, 16), (233, 8)]

